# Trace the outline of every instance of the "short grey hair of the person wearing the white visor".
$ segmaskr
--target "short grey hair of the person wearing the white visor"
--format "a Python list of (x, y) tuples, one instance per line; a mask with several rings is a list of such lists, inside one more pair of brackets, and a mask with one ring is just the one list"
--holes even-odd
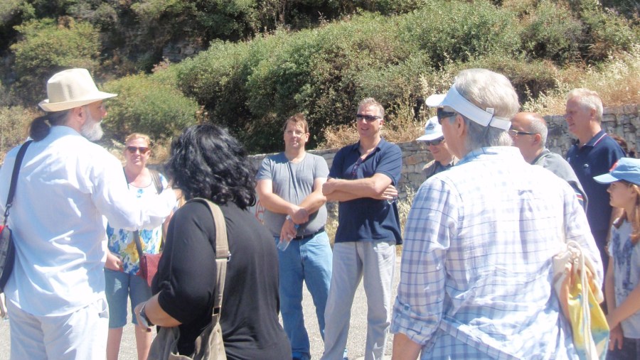
[[(454, 86), (459, 94), (480, 109), (494, 109), (494, 116), (511, 119), (518, 109), (518, 94), (511, 82), (501, 74), (486, 69), (462, 70)], [(462, 114), (461, 114), (462, 116)], [(486, 146), (511, 146), (508, 132), (493, 126), (482, 126), (462, 116), (468, 129), (464, 145), (466, 151)], [(451, 118), (450, 121), (454, 121)]]

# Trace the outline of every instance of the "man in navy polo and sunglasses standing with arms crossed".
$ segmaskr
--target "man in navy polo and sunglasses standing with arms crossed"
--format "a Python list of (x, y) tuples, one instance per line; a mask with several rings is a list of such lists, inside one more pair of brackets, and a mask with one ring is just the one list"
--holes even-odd
[(338, 230), (329, 298), (324, 313), (324, 355), (343, 358), (353, 295), (364, 279), (367, 295), (365, 359), (382, 359), (390, 327), (395, 245), (402, 244), (395, 186), (402, 151), (380, 137), (385, 110), (373, 98), (358, 106), (360, 141), (340, 149), (322, 192), (338, 201)]

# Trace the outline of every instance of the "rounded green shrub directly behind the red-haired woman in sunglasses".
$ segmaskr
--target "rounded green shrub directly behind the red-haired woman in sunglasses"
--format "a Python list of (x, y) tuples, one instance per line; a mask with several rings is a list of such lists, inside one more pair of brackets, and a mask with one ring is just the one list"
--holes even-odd
[(132, 75), (107, 82), (105, 91), (118, 94), (107, 100), (104, 128), (116, 141), (132, 132), (146, 133), (156, 141), (171, 138), (195, 124), (198, 104), (154, 75)]

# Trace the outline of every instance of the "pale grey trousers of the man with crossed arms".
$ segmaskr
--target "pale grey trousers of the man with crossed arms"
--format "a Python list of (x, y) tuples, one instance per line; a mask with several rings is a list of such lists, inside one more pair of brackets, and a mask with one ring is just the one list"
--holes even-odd
[(353, 241), (334, 244), (329, 298), (324, 312), (322, 360), (343, 359), (351, 305), (364, 278), (367, 295), (365, 360), (383, 359), (391, 319), (391, 287), (395, 271), (395, 241)]

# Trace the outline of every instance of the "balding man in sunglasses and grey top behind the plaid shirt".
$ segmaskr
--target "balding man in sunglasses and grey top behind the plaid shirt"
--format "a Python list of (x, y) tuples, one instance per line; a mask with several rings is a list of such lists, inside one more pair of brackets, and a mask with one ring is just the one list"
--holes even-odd
[(511, 119), (509, 134), (513, 138), (513, 145), (520, 149), (525, 161), (533, 165), (540, 165), (569, 182), (582, 208), (587, 209), (587, 195), (571, 165), (562, 156), (552, 153), (545, 147), (547, 133), (545, 119), (535, 112), (519, 112)]

